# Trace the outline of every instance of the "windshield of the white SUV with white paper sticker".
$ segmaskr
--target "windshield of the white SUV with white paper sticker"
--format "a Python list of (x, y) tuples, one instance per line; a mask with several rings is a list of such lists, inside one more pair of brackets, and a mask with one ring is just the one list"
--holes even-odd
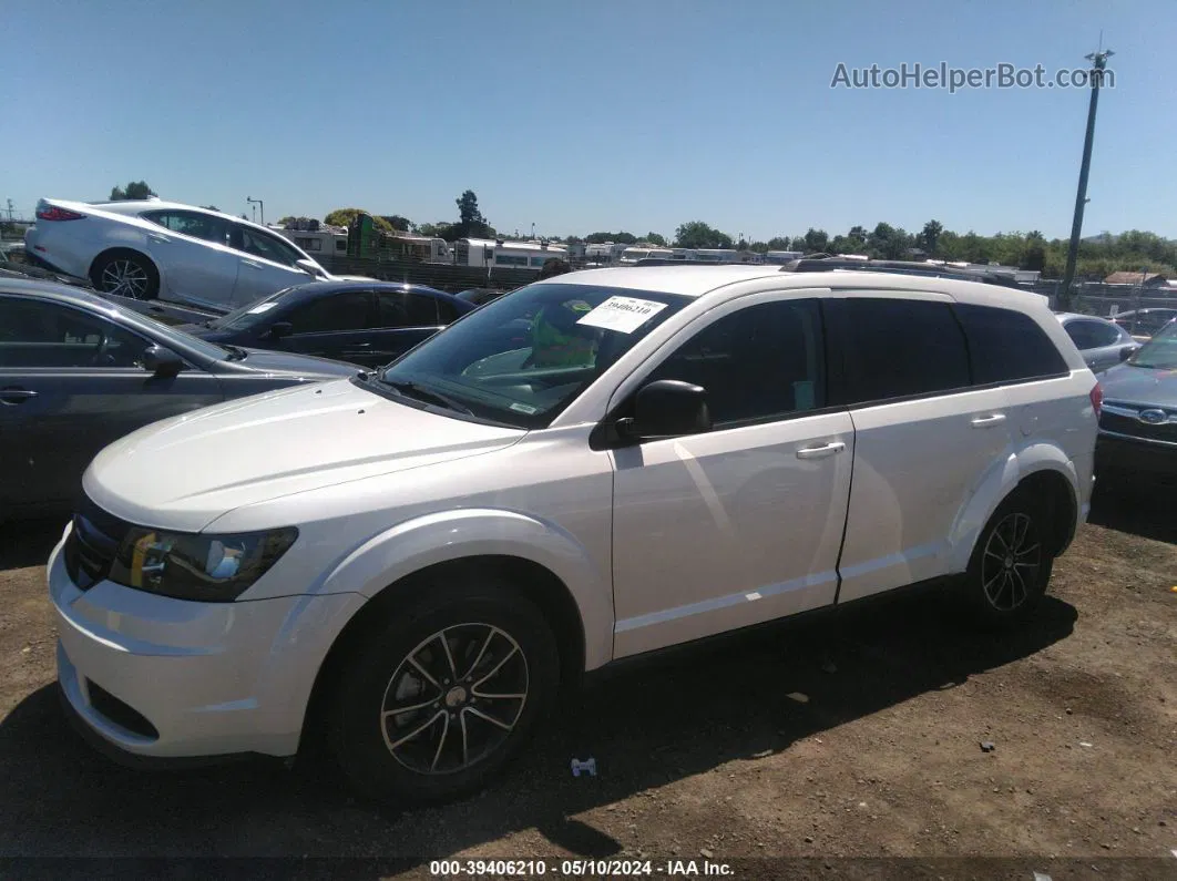
[(541, 428), (690, 302), (676, 294), (536, 283), (477, 309), (371, 381), (518, 428)]

